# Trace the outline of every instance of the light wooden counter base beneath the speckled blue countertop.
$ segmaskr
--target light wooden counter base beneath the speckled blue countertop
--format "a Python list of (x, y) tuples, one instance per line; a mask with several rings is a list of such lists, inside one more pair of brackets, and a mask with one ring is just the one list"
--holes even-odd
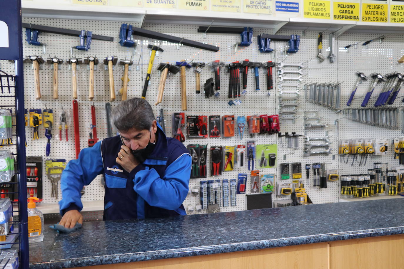
[(88, 269), (189, 268), (403, 268), (404, 235), (266, 248), (183, 258), (83, 267)]

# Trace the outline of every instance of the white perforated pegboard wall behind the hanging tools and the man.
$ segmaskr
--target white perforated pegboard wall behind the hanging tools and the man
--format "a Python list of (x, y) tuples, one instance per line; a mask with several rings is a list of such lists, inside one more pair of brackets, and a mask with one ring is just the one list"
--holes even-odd
[[(108, 55), (114, 55), (119, 59), (124, 59), (125, 57), (130, 58), (133, 56), (133, 65), (129, 71), (129, 83), (128, 83), (128, 98), (140, 97), (143, 89), (143, 83), (145, 79), (145, 74), (147, 73), (147, 65), (149, 61), (149, 52), (147, 49), (148, 44), (158, 45), (160, 42), (158, 40), (149, 40), (141, 38), (136, 40), (140, 43), (137, 51), (134, 55), (133, 49), (122, 47), (118, 44), (119, 41), (119, 29), (122, 23), (130, 23), (136, 27), (139, 27), (139, 23), (135, 22), (114, 22), (114, 21), (88, 21), (88, 20), (68, 20), (68, 19), (44, 19), (44, 18), (23, 18), (23, 22), (32, 23), (38, 25), (48, 25), (54, 27), (61, 27), (67, 29), (86, 29), (93, 31), (94, 34), (107, 35), (114, 37), (114, 42), (93, 40), (91, 43), (91, 48), (88, 52), (75, 50), (77, 58), (84, 58), (86, 56), (96, 56), (99, 58), (99, 65), (97, 70), (94, 72), (95, 76), (95, 98), (94, 102), (88, 101), (88, 76), (89, 71), (85, 64), (80, 65), (80, 69), (77, 71), (77, 81), (78, 81), (78, 104), (79, 104), (79, 119), (80, 119), (80, 147), (85, 148), (88, 146), (87, 140), (89, 138), (90, 124), (91, 124), (91, 113), (90, 106), (94, 103), (96, 107), (97, 115), (97, 134), (100, 139), (107, 137), (106, 130), (106, 115), (105, 115), (105, 102), (109, 102), (109, 80), (108, 71), (105, 70), (103, 65), (103, 58)], [(151, 85), (148, 87), (146, 100), (148, 100), (154, 112), (158, 115), (160, 108), (164, 108), (164, 118), (166, 125), (167, 136), (172, 136), (173, 130), (172, 125), (172, 114), (174, 112), (181, 111), (181, 92), (180, 92), (180, 75), (169, 74), (166, 80), (163, 102), (154, 105), (157, 96), (158, 83), (160, 80), (160, 73), (156, 70), (156, 67), (160, 62), (170, 62), (175, 63), (175, 61), (180, 61), (186, 59), (187, 61), (194, 60), (195, 62), (205, 62), (209, 63), (214, 60), (221, 60), (224, 63), (230, 63), (236, 60), (249, 59), (253, 62), (267, 62), (268, 60), (275, 61), (277, 63), (304, 63), (306, 67), (303, 70), (303, 82), (299, 85), (301, 90), (303, 84), (311, 82), (328, 83), (328, 82), (341, 82), (341, 108), (346, 108), (345, 104), (349, 98), (351, 88), (356, 80), (355, 72), (361, 71), (366, 75), (370, 73), (378, 72), (381, 74), (390, 73), (393, 71), (402, 70), (402, 66), (397, 64), (397, 59), (404, 54), (404, 49), (402, 48), (402, 35), (386, 35), (385, 40), (382, 44), (378, 42), (369, 45), (369, 48), (365, 49), (364, 46), (358, 46), (357, 49), (351, 48), (349, 52), (343, 47), (348, 44), (353, 44), (355, 42), (360, 42), (361, 40), (370, 40), (377, 36), (377, 33), (344, 33), (336, 41), (337, 48), (337, 60), (335, 63), (329, 63), (325, 60), (320, 63), (317, 56), (317, 35), (318, 31), (305, 31), (305, 34), (300, 30), (280, 30), (277, 34), (280, 35), (290, 35), (298, 34), (301, 35), (301, 42), (299, 46), (299, 52), (296, 54), (284, 54), (284, 50), (288, 48), (287, 42), (271, 42), (271, 48), (275, 49), (275, 52), (269, 54), (260, 53), (257, 46), (257, 35), (261, 33), (272, 34), (273, 29), (264, 28), (254, 28), (254, 37), (252, 44), (249, 47), (238, 48), (235, 50), (234, 45), (240, 42), (240, 36), (234, 34), (215, 34), (208, 33), (206, 38), (203, 38), (202, 33), (197, 33), (198, 25), (162, 25), (162, 24), (145, 24), (143, 28), (152, 31), (158, 31), (170, 35), (179, 36), (181, 38), (186, 38), (190, 40), (195, 40), (199, 42), (206, 42), (214, 46), (219, 46), (219, 52), (210, 52), (206, 50), (199, 50), (196, 48), (191, 48), (187, 46), (177, 46), (178, 44), (172, 44), (169, 42), (161, 42), (160, 47), (164, 49), (164, 52), (160, 52), (154, 60), (153, 73), (151, 77)], [(328, 33), (325, 31), (323, 33), (323, 51), (325, 56), (328, 56)], [(34, 74), (32, 69), (32, 64), (24, 64), (24, 77), (25, 77), (25, 107), (26, 108), (41, 108), (53, 109), (56, 119), (59, 119), (59, 113), (61, 113), (61, 108), (65, 111), (69, 111), (72, 116), (72, 85), (71, 85), (71, 70), (69, 70), (69, 65), (66, 63), (66, 58), (70, 57), (70, 48), (72, 46), (77, 46), (79, 44), (78, 37), (57, 35), (52, 33), (40, 33), (38, 41), (46, 44), (46, 54), (42, 55), (42, 47), (27, 45), (24, 42), (24, 56), (29, 56), (32, 54), (42, 55), (45, 59), (45, 63), (42, 65), (42, 70), (40, 70), (40, 86), (41, 86), (41, 100), (35, 100), (34, 98)], [(57, 56), (58, 58), (63, 58), (63, 64), (60, 65), (59, 70), (59, 99), (54, 100), (52, 98), (53, 86), (53, 70), (51, 65), (46, 63), (46, 58)], [(0, 61), (1, 69), (4, 71), (9, 71), (13, 73), (13, 64), (5, 61)], [(140, 66), (140, 70), (136, 70), (136, 66)], [(295, 67), (285, 67), (285, 69), (291, 70), (297, 68)], [(227, 102), (227, 85), (229, 82), (229, 75), (226, 73), (225, 69), (221, 70), (221, 96), (219, 98), (205, 99), (203, 91), (201, 94), (195, 93), (195, 75), (192, 71), (193, 69), (187, 70), (186, 81), (187, 81), (187, 106), (188, 109), (185, 111), (185, 116), (187, 115), (231, 115), (237, 116), (247, 116), (247, 115), (261, 115), (261, 114), (280, 114), (280, 111), (288, 111), (292, 108), (282, 108), (279, 107), (280, 94), (278, 93), (278, 73), (277, 69), (274, 69), (274, 90), (267, 91), (266, 80), (263, 69), (260, 71), (260, 91), (255, 91), (255, 79), (254, 74), (248, 74), (248, 84), (247, 84), (247, 94), (242, 96), (240, 100), (242, 104), (237, 106), (229, 106)], [(121, 95), (118, 90), (122, 87), (123, 69), (122, 65), (116, 65), (114, 67), (114, 83), (116, 100), (111, 102), (112, 108), (119, 104), (121, 100)], [(290, 74), (288, 77), (298, 76), (297, 74)], [(206, 79), (213, 77), (213, 73), (210, 67), (204, 67), (201, 73), (201, 85), (206, 81)], [(293, 82), (293, 81), (290, 81)], [(366, 92), (367, 83), (364, 82), (360, 85), (356, 92), (356, 97), (360, 97), (354, 100), (351, 107), (359, 107), (363, 100), (364, 93)], [(202, 86), (201, 86), (202, 87)], [(296, 90), (295, 87), (282, 87), (283, 90)], [(379, 85), (378, 90), (381, 89)], [(270, 93), (270, 96), (268, 95)], [(375, 91), (373, 96), (378, 94)], [(294, 94), (282, 94), (282, 96), (295, 96)], [(400, 94), (399, 94), (400, 96)], [(374, 99), (371, 99), (374, 100)], [(5, 101), (2, 100), (2, 103)], [(316, 163), (323, 162), (326, 163), (326, 169), (340, 169), (340, 174), (348, 173), (358, 173), (365, 172), (367, 169), (372, 168), (373, 162), (391, 162), (392, 165), (397, 165), (397, 161), (393, 161), (393, 153), (389, 152), (389, 155), (383, 157), (369, 157), (366, 166), (361, 166), (358, 169), (357, 166), (351, 166), (350, 163), (339, 163), (338, 154), (338, 140), (344, 138), (393, 138), (400, 136), (400, 130), (388, 130), (374, 126), (363, 125), (350, 121), (345, 118), (343, 113), (336, 113), (335, 111), (323, 108), (317, 104), (312, 104), (305, 102), (304, 92), (301, 90), (300, 97), (298, 100), (298, 107), (296, 108), (296, 120), (292, 123), (289, 120), (281, 120), (281, 132), (296, 132), (299, 135), (299, 149), (294, 150), (286, 147), (286, 140), (284, 138), (278, 138), (276, 135), (257, 135), (254, 138), (250, 138), (244, 135), (242, 140), (238, 137), (238, 131), (236, 129), (236, 136), (234, 138), (224, 139), (224, 138), (207, 138), (207, 139), (195, 139), (186, 140), (184, 142), (185, 146), (188, 144), (207, 144), (210, 146), (234, 146), (238, 144), (246, 144), (247, 140), (255, 140), (257, 144), (278, 144), (277, 153), (277, 163), (278, 167), (280, 163), (302, 163), (302, 176), (301, 181), (305, 184), (307, 194), (314, 203), (324, 203), (324, 202), (338, 202), (339, 201), (339, 182), (328, 182), (328, 188), (318, 188), (313, 187), (313, 170), (310, 170), (309, 178), (306, 178), (305, 164), (306, 163)], [(400, 106), (401, 98), (397, 99), (393, 106)], [(370, 103), (369, 103), (370, 106)], [(318, 114), (322, 117), (320, 123), (326, 123), (328, 127), (326, 128), (313, 128), (304, 129), (304, 112), (305, 111), (318, 111)], [(280, 115), (281, 116), (281, 115)], [(312, 122), (312, 121), (311, 121)], [(313, 122), (314, 123), (314, 122)], [(44, 156), (45, 159), (54, 158), (65, 158), (69, 161), (75, 158), (74, 149), (74, 128), (71, 122), (68, 136), (69, 141), (65, 142), (64, 132), (62, 141), (56, 138), (58, 134), (57, 125), (54, 125), (53, 136), (51, 140), (51, 150), (50, 156), (45, 157), (45, 146), (46, 138), (44, 137), (43, 125), (40, 126), (40, 138), (39, 140), (32, 140), (32, 128), (26, 128), (27, 134), (27, 156)], [(185, 129), (183, 129), (185, 132)], [(114, 130), (115, 133), (115, 130)], [(328, 134), (332, 142), (330, 148), (332, 148), (332, 154), (329, 155), (316, 155), (303, 157), (303, 135), (310, 137), (324, 137)], [(207, 171), (210, 174), (210, 156), (208, 154), (207, 161)], [(246, 161), (246, 160), (245, 160)], [(259, 161), (259, 160), (258, 160)], [(257, 162), (255, 163), (257, 167)], [(276, 183), (279, 182), (280, 169), (278, 168), (268, 168), (259, 169), (260, 174), (276, 174)], [(250, 194), (250, 173), (247, 168), (236, 167), (234, 171), (223, 172), (220, 177), (215, 177), (215, 179), (233, 179), (238, 177), (238, 173), (247, 173), (248, 181), (246, 192)], [(209, 178), (208, 178), (209, 179)], [(210, 178), (211, 179), (211, 178)], [(200, 186), (200, 180), (204, 179), (190, 179), (189, 188), (198, 188)], [(286, 183), (290, 183), (291, 180), (285, 180)], [(51, 184), (49, 179), (44, 177), (44, 200), (42, 203), (54, 203), (57, 202), (56, 199), (50, 197)], [(92, 200), (103, 200), (104, 187), (101, 184), (101, 176), (97, 177), (89, 186), (85, 188), (85, 194), (82, 196), (82, 201), (92, 201)], [(59, 198), (61, 197), (60, 184), (59, 184)], [(288, 199), (289, 197), (276, 197), (275, 194), (272, 196), (272, 200)], [(183, 203), (185, 208), (188, 206), (195, 206), (199, 204), (199, 194), (194, 196), (189, 194)], [(239, 211), (246, 209), (246, 197), (244, 194), (237, 195), (237, 206), (221, 207), (221, 211)], [(56, 206), (55, 206), (56, 207)], [(197, 212), (194, 212), (197, 213)], [(206, 211), (202, 211), (206, 213)]]

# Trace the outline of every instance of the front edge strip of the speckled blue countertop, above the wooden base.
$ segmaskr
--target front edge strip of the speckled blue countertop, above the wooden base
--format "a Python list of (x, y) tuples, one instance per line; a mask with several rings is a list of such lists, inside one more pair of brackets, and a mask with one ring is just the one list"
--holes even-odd
[(321, 242), (332, 242), (338, 240), (348, 240), (357, 238), (367, 238), (375, 236), (388, 236), (404, 234), (404, 226), (366, 229), (359, 231), (347, 231), (342, 233), (318, 234), (311, 236), (299, 236), (292, 238), (279, 238), (271, 240), (261, 240), (253, 242), (240, 242), (234, 244), (202, 246), (194, 248), (179, 248), (170, 250), (157, 250), (149, 252), (134, 252), (125, 254), (112, 254), (107, 256), (93, 256), (75, 259), (51, 260), (48, 263), (30, 264), (31, 269), (42, 268), (69, 268), (92, 265), (105, 265), (115, 263), (130, 263), (135, 261), (150, 261), (158, 259), (181, 258), (188, 256), (199, 256), (207, 254), (219, 254), (236, 251), (257, 250), (264, 248), (277, 248), (282, 246), (295, 246), (313, 244)]

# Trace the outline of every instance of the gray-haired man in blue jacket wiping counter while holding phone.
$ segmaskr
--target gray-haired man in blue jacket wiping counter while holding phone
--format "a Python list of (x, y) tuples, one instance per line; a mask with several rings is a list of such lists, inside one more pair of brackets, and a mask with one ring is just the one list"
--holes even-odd
[(80, 191), (105, 174), (104, 220), (186, 215), (192, 158), (187, 148), (168, 138), (141, 98), (123, 101), (112, 111), (120, 135), (84, 148), (61, 177), (63, 215), (59, 224), (82, 223)]

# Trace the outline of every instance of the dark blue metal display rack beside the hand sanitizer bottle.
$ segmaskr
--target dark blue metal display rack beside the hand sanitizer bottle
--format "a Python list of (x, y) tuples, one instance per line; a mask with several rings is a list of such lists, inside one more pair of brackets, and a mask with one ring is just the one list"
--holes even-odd
[[(24, 82), (23, 82), (23, 48), (22, 48), (22, 26), (21, 26), (21, 1), (14, 0), (2, 3), (0, 11), (2, 21), (8, 24), (7, 31), (0, 33), (7, 35), (0, 38), (8, 40), (8, 47), (0, 48), (0, 59), (13, 60), (15, 64), (15, 75), (9, 75), (4, 71), (0, 72), (0, 100), (1, 106), (11, 109), (12, 116), (15, 118), (15, 137), (14, 143), (4, 145), (16, 156), (15, 181), (7, 182), (7, 184), (17, 184), (15, 192), (9, 194), (18, 194), (19, 200), (12, 201), (14, 208), (18, 206), (18, 221), (13, 221), (14, 225), (18, 225), (18, 240), (13, 243), (18, 244), (19, 250), (19, 268), (29, 267), (29, 250), (28, 250), (28, 217), (27, 217), (27, 201), (25, 194), (27, 193), (27, 177), (25, 175), (25, 116), (24, 116)], [(6, 28), (7, 29), (7, 28)], [(13, 128), (14, 129), (14, 128)], [(14, 234), (17, 234), (15, 232)]]

